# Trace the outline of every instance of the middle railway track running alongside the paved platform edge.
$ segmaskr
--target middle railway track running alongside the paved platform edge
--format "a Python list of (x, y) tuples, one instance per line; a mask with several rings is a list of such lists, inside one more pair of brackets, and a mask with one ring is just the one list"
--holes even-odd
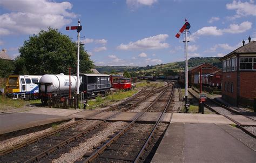
[[(154, 137), (161, 118), (169, 106), (173, 94), (173, 86), (168, 86), (160, 96), (140, 113), (129, 125), (112, 135), (109, 140), (91, 154), (85, 154), (82, 162), (139, 162), (149, 151), (149, 142)], [(172, 92), (170, 94), (170, 92)], [(168, 96), (168, 98), (167, 98)], [(164, 101), (163, 101), (164, 100)], [(161, 103), (165, 103), (161, 106)], [(153, 107), (160, 107), (161, 116), (155, 124), (140, 124), (138, 119)], [(156, 108), (155, 108), (156, 110)]]

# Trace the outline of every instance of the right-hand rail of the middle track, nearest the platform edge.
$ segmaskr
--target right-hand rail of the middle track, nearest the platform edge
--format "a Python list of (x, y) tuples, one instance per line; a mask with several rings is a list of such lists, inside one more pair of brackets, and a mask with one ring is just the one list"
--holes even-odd
[(156, 129), (157, 129), (159, 123), (160, 123), (161, 118), (164, 117), (164, 113), (165, 113), (166, 109), (167, 109), (167, 108), (169, 107), (169, 105), (170, 105), (170, 102), (171, 102), (171, 99), (172, 99), (172, 96), (173, 96), (173, 92), (174, 92), (173, 90), (174, 90), (174, 89), (173, 89), (173, 86), (172, 86), (172, 93), (171, 93), (171, 96), (170, 96), (170, 98), (169, 98), (169, 101), (168, 101), (168, 103), (166, 104), (166, 106), (165, 106), (165, 108), (164, 108), (164, 111), (161, 113), (160, 118), (158, 119), (157, 123), (154, 125), (153, 130), (151, 131), (149, 137), (147, 138), (145, 144), (143, 145), (142, 149), (140, 150), (140, 152), (139, 152), (139, 154), (137, 155), (137, 157), (136, 157), (136, 159), (134, 160), (134, 162), (139, 162), (139, 160), (142, 159), (142, 155), (143, 155), (143, 153), (146, 151), (146, 147), (147, 147), (147, 145), (149, 144), (149, 141), (151, 140), (151, 138), (152, 138), (152, 136), (153, 136), (153, 134), (154, 134), (154, 131), (156, 131)]

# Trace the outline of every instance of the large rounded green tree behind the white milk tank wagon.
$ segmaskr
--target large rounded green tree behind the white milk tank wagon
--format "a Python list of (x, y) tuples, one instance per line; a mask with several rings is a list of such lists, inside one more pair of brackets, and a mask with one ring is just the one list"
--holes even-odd
[[(15, 60), (18, 74), (68, 74), (69, 67), (76, 73), (77, 44), (57, 29), (41, 30), (38, 35), (30, 36), (19, 53), (21, 55)], [(93, 63), (83, 45), (80, 45), (79, 53), (80, 73), (90, 72)]]

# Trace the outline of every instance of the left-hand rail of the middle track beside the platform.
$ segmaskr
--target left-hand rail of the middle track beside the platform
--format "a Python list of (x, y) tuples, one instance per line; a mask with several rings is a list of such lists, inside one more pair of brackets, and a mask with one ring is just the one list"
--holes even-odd
[(114, 140), (118, 139), (121, 135), (124, 134), (125, 131), (127, 131), (146, 111), (149, 109), (153, 104), (157, 103), (158, 99), (163, 96), (165, 91), (168, 89), (169, 86), (166, 87), (166, 89), (160, 94), (160, 96), (153, 101), (153, 103), (148, 106), (143, 112), (141, 112), (131, 123), (129, 123), (122, 131), (118, 132), (114, 137), (112, 137), (110, 140), (108, 140), (102, 147), (100, 147), (98, 150), (93, 152), (90, 157), (88, 157), (86, 160), (82, 162), (91, 162), (93, 159), (95, 159), (100, 153), (102, 153)]

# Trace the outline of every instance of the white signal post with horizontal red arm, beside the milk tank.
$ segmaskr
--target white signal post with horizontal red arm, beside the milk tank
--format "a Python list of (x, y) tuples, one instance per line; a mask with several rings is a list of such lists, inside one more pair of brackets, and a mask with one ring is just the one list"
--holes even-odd
[[(77, 30), (77, 107), (78, 107), (78, 99), (79, 99), (79, 50), (80, 50), (80, 31), (82, 30), (82, 25), (80, 25), (80, 19), (78, 19), (78, 26), (66, 26), (66, 30)], [(79, 107), (78, 107), (79, 108)]]

